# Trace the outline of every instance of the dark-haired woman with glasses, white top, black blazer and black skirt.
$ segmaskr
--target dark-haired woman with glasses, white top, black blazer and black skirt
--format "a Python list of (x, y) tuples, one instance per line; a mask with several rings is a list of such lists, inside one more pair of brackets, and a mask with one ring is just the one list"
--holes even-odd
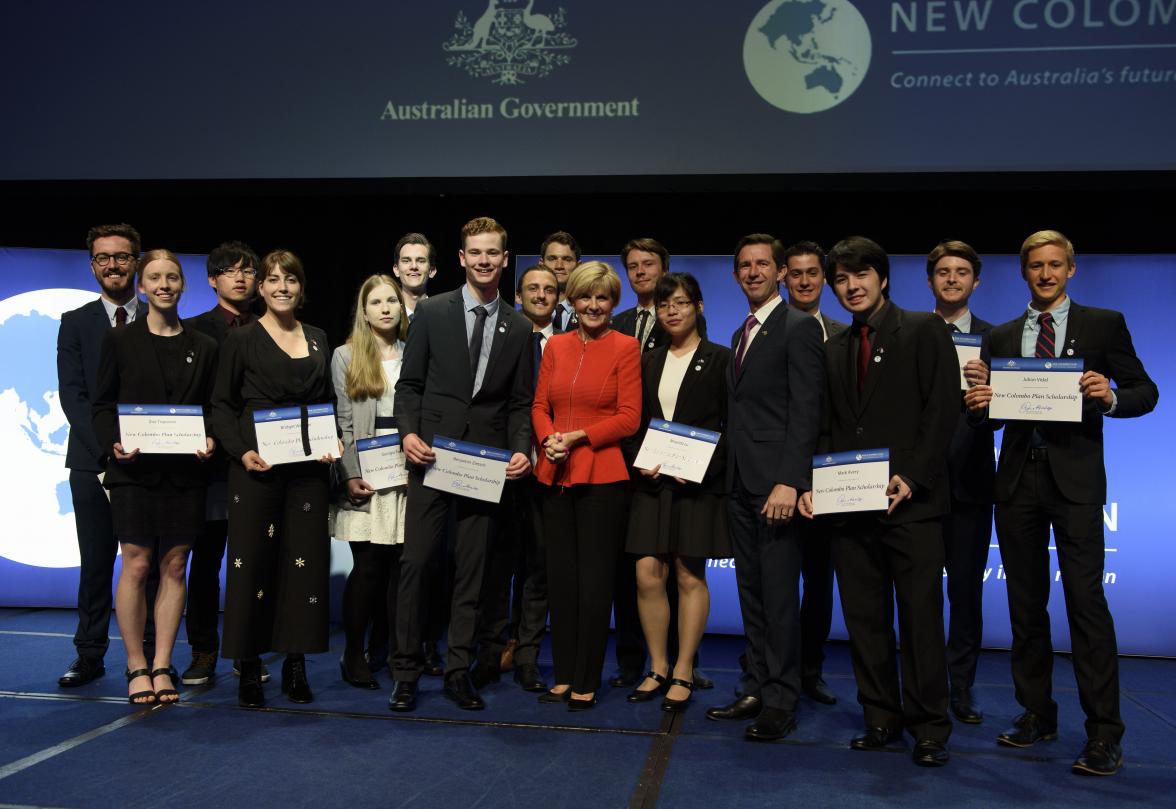
[[(700, 333), (702, 292), (694, 276), (669, 273), (654, 292), (667, 346), (641, 357), (642, 428), (629, 442), (630, 462), (650, 419), (664, 419), (722, 434), (727, 428), (727, 361), (730, 352)], [(629, 508), (626, 550), (637, 560), (637, 610), (649, 648), (649, 674), (629, 694), (646, 702), (664, 694), (664, 710), (681, 710), (694, 690), (694, 656), (710, 611), (707, 559), (731, 555), (723, 502), (726, 442), (720, 437), (701, 483), (641, 469)], [(677, 660), (667, 650), (667, 579), (677, 583)]]

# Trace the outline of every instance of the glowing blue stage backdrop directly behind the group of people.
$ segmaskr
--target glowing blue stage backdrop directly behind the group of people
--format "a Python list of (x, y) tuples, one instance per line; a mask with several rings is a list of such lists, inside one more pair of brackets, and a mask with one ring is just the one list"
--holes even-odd
[[(616, 256), (590, 258), (619, 266)], [(181, 260), (188, 278), (181, 310), (192, 315), (209, 308), (213, 296), (205, 282), (203, 259)], [(534, 261), (534, 256), (520, 256), (516, 266)], [(997, 323), (1017, 316), (1028, 293), (1016, 256), (985, 256), (984, 261), (973, 309)], [(671, 269), (693, 273), (700, 280), (710, 337), (727, 343), (746, 316), (730, 258), (674, 256)], [(896, 303), (929, 308), (926, 279), (922, 258), (894, 256), (891, 293)], [(8, 515), (0, 533), (0, 606), (75, 604), (78, 548), (64, 466), (68, 426), (58, 402), (54, 352), (61, 313), (93, 300), (94, 289), (82, 250), (0, 248), (0, 355), (6, 357), (0, 370), (0, 452), (6, 460), (0, 496)], [(1127, 314), (1136, 349), (1161, 389), (1157, 412), (1140, 420), (1108, 419), (1105, 423), (1110, 479), (1104, 507), (1105, 583), (1117, 619), (1120, 649), (1176, 655), (1176, 596), (1170, 583), (1176, 551), (1165, 539), (1170, 529), (1163, 506), (1164, 459), (1176, 457), (1176, 424), (1163, 402), (1176, 390), (1176, 356), (1161, 348), (1169, 330), (1168, 301), (1176, 296), (1176, 255), (1080, 256), (1070, 292), (1080, 302)], [(621, 306), (632, 306), (627, 285), (624, 293)], [(831, 293), (826, 293), (823, 302), (828, 314), (846, 319)], [(341, 543), (333, 544), (335, 571), (345, 571), (349, 554)], [(741, 631), (731, 567), (730, 560), (710, 566), (710, 631)], [(1008, 646), (1003, 573), (995, 548), (987, 575), (984, 642)], [(1056, 564), (1054, 575), (1054, 636), (1060, 648), (1068, 648)], [(833, 634), (844, 637), (840, 613)]]

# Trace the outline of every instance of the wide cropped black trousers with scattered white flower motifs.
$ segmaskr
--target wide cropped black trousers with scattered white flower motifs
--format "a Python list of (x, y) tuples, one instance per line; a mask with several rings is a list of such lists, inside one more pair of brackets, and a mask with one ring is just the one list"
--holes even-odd
[(327, 650), (327, 475), (315, 461), (229, 466), (222, 657)]

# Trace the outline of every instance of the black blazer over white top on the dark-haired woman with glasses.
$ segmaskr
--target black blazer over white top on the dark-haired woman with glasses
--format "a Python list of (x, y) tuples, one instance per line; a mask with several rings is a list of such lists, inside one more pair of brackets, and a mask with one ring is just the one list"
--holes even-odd
[[(662, 372), (666, 369), (666, 357), (669, 346), (654, 348), (641, 355), (641, 429), (626, 439), (622, 448), (624, 459), (633, 466), (646, 430), (652, 419), (664, 419), (657, 388), (661, 386)], [(683, 494), (701, 492), (706, 494), (727, 493), (727, 363), (730, 352), (717, 343), (703, 340), (694, 352), (694, 359), (677, 389), (674, 403), (674, 421), (690, 427), (720, 433), (719, 446), (710, 456), (710, 466), (701, 483), (687, 482), (679, 484), (668, 475), (657, 480), (646, 477), (637, 469), (632, 469), (634, 484), (643, 490), (656, 494), (662, 488), (680, 489)]]

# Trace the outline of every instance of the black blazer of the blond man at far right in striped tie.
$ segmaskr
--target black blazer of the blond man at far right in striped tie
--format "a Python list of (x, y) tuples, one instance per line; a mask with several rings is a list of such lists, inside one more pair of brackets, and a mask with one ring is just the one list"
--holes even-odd
[[(1021, 356), (1027, 315), (1022, 314), (993, 329), (993, 356)], [(1078, 306), (1071, 300), (1065, 345), (1060, 356), (1082, 357), (1087, 370), (1096, 370), (1114, 380), (1118, 396), (1112, 415), (1115, 419), (1142, 416), (1155, 409), (1160, 400), (1160, 390), (1136, 356), (1131, 333), (1118, 312)], [(996, 502), (1013, 496), (1029, 455), (1034, 427), (1045, 440), (1049, 468), (1062, 495), (1075, 503), (1105, 502), (1102, 420), (1101, 404), (1084, 400), (1081, 422), (1007, 422), (1001, 441), (1001, 462), (996, 468)]]

